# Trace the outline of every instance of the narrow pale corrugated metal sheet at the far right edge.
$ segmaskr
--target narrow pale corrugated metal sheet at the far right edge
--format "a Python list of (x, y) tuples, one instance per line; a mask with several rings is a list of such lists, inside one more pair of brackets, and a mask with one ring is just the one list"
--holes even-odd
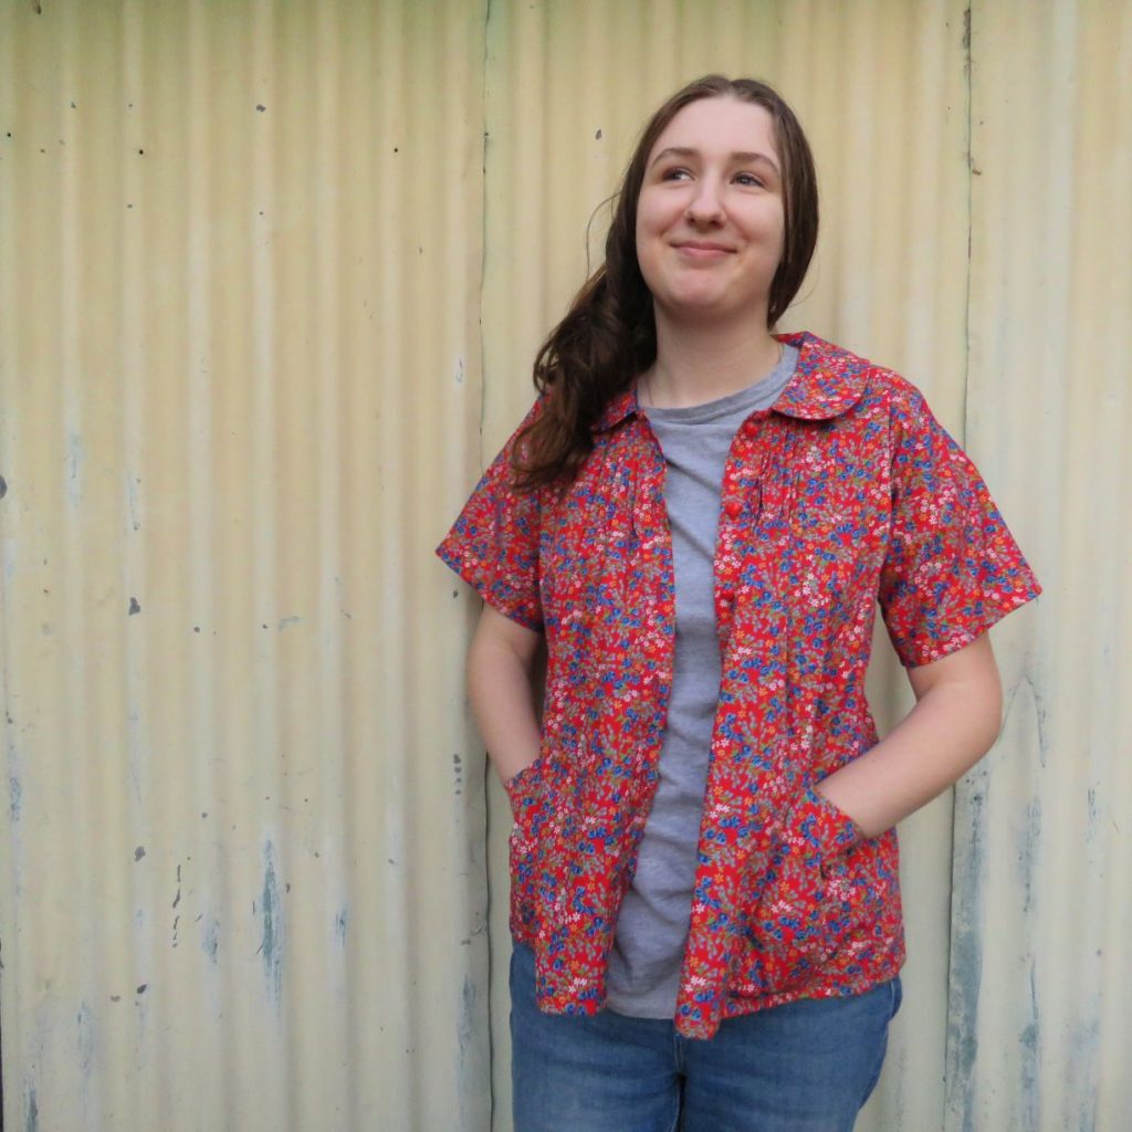
[(971, 14), (968, 441), (1046, 585), (960, 794), (949, 1130), (1129, 1125), (1132, 6)]

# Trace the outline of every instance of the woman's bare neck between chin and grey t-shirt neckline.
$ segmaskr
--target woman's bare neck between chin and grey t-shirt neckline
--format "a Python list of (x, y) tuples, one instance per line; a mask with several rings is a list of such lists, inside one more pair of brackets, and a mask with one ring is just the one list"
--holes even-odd
[(761, 319), (724, 329), (674, 325), (657, 311), (657, 360), (642, 375), (645, 400), (658, 409), (718, 401), (767, 377), (782, 346)]

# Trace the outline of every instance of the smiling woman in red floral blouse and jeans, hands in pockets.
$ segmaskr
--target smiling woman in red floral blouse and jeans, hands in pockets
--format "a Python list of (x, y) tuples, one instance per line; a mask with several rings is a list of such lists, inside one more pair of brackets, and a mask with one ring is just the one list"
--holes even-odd
[[(986, 631), (1037, 582), (911, 385), (773, 333), (816, 234), (774, 91), (674, 95), (439, 549), (515, 815), (518, 1132), (850, 1130), (900, 998), (893, 826), (997, 735)], [(880, 741), (877, 604), (916, 695)]]

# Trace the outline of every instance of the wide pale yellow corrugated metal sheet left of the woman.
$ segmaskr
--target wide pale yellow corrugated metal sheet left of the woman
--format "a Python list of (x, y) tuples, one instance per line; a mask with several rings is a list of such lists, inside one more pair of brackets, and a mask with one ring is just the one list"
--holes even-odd
[(12, 1127), (487, 1125), (484, 16), (0, 8)]

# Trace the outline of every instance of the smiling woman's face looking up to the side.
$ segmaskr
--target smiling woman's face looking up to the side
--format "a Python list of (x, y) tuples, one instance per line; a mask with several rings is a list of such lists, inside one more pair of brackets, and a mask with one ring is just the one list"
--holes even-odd
[(637, 198), (636, 249), (658, 314), (766, 324), (782, 258), (782, 162), (763, 108), (701, 98), (649, 154)]

